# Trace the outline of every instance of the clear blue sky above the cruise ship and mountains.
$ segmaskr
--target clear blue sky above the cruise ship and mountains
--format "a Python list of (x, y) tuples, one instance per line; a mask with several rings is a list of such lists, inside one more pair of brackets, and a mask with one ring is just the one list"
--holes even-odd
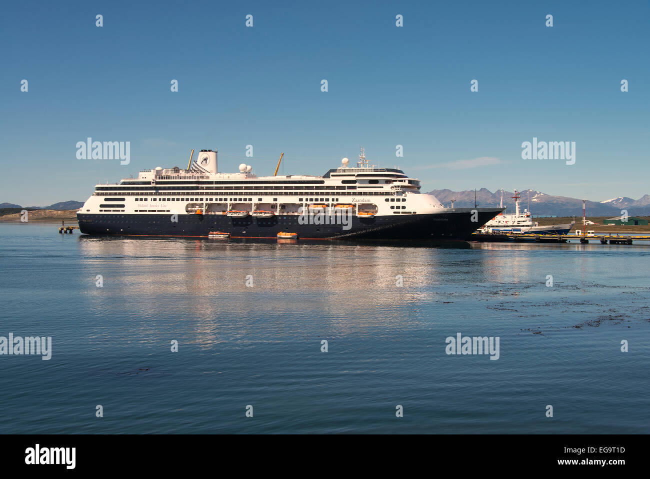
[[(192, 148), (218, 148), (223, 172), (246, 162), (272, 174), (284, 152), (281, 172), (322, 174), (361, 144), (372, 163), (420, 178), (422, 191), (650, 193), (646, 1), (2, 8), (0, 202), (85, 200), (99, 181), (185, 167)], [(131, 163), (77, 159), (86, 137), (130, 141)], [(575, 141), (575, 165), (522, 159), (533, 137)]]

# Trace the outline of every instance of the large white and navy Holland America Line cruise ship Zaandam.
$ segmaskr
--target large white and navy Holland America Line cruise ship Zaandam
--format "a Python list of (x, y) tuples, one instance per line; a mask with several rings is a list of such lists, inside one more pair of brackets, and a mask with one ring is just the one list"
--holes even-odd
[[(192, 156), (193, 156), (192, 150)], [(77, 212), (92, 235), (465, 241), (502, 208), (446, 208), (417, 178), (370, 165), (361, 148), (322, 176), (220, 173), (216, 150), (187, 169), (157, 167), (99, 184)], [(282, 157), (280, 157), (281, 161)]]

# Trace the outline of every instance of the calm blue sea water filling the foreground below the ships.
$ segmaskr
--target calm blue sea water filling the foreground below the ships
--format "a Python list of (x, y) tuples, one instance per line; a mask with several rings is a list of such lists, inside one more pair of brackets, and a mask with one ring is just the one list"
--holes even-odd
[[(57, 225), (0, 223), (0, 336), (53, 344), (49, 361), (0, 356), (0, 433), (650, 432), (650, 246), (91, 238)], [(499, 359), (447, 355), (457, 333), (499, 336)]]

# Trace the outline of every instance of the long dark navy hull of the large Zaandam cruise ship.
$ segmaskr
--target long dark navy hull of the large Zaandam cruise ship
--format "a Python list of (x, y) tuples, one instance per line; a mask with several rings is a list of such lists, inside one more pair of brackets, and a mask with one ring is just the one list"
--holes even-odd
[[(227, 232), (233, 238), (273, 238), (279, 232), (297, 233), (302, 239), (402, 239), (466, 241), (476, 228), (501, 210), (478, 209), (478, 221), (471, 221), (469, 209), (430, 215), (351, 217), (343, 225), (301, 225), (297, 215), (271, 218), (233, 218), (226, 215), (128, 215), (78, 213), (79, 229), (85, 234), (125, 236), (208, 236), (211, 231)], [(332, 217), (333, 218), (333, 217)]]

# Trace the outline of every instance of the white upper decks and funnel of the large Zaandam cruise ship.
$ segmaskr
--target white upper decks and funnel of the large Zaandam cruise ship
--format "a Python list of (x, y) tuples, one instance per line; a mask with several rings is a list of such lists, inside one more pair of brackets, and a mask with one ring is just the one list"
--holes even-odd
[(356, 166), (344, 158), (340, 167), (323, 176), (257, 176), (245, 163), (237, 173), (220, 173), (217, 152), (201, 150), (190, 169), (157, 167), (118, 184), (96, 185), (78, 213), (221, 215), (235, 210), (299, 215), (313, 205), (333, 209), (346, 204), (354, 213), (376, 216), (445, 210), (437, 198), (419, 190), (417, 178), (369, 165), (363, 148)]

